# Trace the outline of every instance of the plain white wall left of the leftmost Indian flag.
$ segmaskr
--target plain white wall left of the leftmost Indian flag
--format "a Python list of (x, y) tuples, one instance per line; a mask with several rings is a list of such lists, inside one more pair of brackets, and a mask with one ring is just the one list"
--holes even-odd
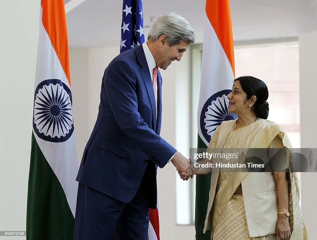
[(26, 230), (39, 13), (37, 0), (0, 1), (0, 231)]

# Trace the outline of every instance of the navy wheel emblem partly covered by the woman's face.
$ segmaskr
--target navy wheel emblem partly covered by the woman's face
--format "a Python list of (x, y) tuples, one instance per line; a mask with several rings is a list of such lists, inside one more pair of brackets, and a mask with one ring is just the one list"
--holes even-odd
[(216, 128), (223, 121), (237, 119), (235, 113), (228, 112), (230, 89), (222, 90), (212, 95), (204, 104), (200, 115), (200, 129), (207, 142), (210, 142)]

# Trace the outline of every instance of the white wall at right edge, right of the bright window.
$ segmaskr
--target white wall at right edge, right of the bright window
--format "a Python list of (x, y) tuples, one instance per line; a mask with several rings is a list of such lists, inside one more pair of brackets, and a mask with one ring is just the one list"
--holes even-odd
[[(301, 147), (317, 148), (317, 32), (299, 35)], [(316, 229), (317, 173), (301, 173), (301, 206), (308, 237), (317, 236)]]

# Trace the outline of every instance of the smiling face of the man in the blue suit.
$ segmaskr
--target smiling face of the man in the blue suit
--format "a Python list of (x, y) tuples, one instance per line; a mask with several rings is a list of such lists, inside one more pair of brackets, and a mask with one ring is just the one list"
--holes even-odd
[(187, 51), (189, 44), (184, 40), (178, 45), (169, 46), (166, 39), (160, 42), (161, 49), (159, 51), (159, 57), (157, 61), (157, 66), (163, 70), (174, 61), (180, 61), (183, 57), (185, 51)]

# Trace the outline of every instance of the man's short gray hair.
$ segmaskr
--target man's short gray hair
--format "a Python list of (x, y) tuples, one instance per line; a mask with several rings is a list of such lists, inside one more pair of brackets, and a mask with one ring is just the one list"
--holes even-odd
[(148, 40), (156, 41), (166, 35), (169, 46), (180, 44), (182, 40), (192, 44), (195, 42), (195, 32), (189, 22), (177, 13), (167, 13), (160, 16), (152, 25)]

